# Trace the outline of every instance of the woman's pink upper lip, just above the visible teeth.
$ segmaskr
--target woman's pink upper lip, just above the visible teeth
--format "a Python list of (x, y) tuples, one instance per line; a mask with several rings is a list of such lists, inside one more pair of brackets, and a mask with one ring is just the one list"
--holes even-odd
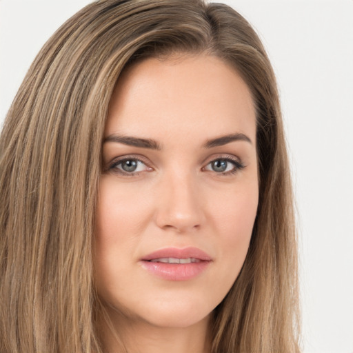
[(199, 259), (201, 261), (212, 261), (212, 258), (209, 254), (200, 250), (198, 248), (163, 248), (150, 254), (143, 256), (142, 261), (151, 261), (154, 259), (162, 259), (172, 257), (174, 259)]

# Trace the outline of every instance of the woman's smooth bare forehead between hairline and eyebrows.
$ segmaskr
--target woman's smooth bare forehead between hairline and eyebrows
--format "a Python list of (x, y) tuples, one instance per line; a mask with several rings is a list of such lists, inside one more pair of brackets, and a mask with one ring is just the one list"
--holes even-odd
[[(112, 94), (105, 136), (166, 139), (241, 132), (255, 141), (248, 86), (218, 57), (145, 59), (126, 69)], [(192, 136), (191, 136), (192, 135)]]

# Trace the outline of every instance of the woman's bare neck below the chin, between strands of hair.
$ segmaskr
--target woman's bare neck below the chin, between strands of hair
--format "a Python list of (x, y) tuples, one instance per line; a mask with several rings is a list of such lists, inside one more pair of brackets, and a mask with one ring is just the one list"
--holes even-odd
[(209, 321), (160, 327), (119, 315), (101, 323), (101, 339), (106, 353), (210, 353)]

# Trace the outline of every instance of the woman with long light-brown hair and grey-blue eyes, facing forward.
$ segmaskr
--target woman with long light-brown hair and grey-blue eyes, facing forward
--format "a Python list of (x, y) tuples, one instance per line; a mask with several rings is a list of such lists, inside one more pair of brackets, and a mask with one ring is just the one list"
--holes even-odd
[(228, 6), (86, 6), (0, 153), (1, 352), (299, 352), (276, 83)]

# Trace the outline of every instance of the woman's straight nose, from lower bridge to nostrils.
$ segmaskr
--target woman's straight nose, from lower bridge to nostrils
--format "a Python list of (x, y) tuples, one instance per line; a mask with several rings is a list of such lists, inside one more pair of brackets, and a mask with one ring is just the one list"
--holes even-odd
[(172, 174), (159, 183), (156, 223), (163, 230), (185, 233), (205, 222), (202, 192), (187, 174)]

